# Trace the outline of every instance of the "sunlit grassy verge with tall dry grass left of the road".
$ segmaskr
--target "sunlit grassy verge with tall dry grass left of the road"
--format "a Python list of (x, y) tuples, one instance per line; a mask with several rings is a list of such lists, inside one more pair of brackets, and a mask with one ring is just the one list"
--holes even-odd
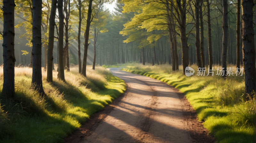
[[(59, 81), (57, 74), (53, 71), (53, 83), (48, 83), (42, 69), (46, 95), (40, 98), (30, 89), (32, 68), (15, 67), (15, 100), (0, 93), (0, 142), (62, 142), (125, 91), (124, 81), (102, 67), (88, 66), (86, 78), (78, 74), (77, 66), (70, 67), (70, 72), (65, 71), (66, 82)], [(0, 67), (0, 92), (2, 88)]]

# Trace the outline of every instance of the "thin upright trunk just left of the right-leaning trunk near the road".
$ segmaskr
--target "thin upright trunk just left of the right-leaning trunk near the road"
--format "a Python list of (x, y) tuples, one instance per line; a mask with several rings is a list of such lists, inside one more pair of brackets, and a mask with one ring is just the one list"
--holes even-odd
[(79, 70), (79, 74), (81, 74), (82, 72), (82, 63), (81, 63), (81, 41), (80, 41), (80, 34), (81, 34), (81, 23), (82, 23), (82, 17), (81, 17), (81, 0), (78, 0), (79, 3), (79, 23), (78, 23), (78, 34), (77, 34), (77, 40), (78, 40), (78, 70)]

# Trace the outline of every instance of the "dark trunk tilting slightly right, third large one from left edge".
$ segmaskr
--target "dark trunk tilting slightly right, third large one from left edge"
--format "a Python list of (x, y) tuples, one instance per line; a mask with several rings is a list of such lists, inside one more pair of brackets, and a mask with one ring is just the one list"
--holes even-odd
[[(53, 67), (53, 47), (54, 47), (54, 26), (55, 26), (55, 15), (57, 8), (57, 0), (52, 0), (52, 8), (49, 20), (49, 41), (47, 50), (47, 77), (46, 81), (52, 82), (52, 67)], [(31, 62), (31, 60), (30, 60)]]

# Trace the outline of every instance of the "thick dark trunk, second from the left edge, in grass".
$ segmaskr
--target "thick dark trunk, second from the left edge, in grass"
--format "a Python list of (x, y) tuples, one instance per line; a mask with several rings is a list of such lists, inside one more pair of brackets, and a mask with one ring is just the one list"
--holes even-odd
[(32, 67), (32, 86), (41, 96), (44, 96), (42, 83), (42, 39), (41, 39), (41, 23), (42, 23), (42, 1), (32, 0), (33, 3), (33, 27), (32, 27), (32, 44), (33, 44), (33, 67)]

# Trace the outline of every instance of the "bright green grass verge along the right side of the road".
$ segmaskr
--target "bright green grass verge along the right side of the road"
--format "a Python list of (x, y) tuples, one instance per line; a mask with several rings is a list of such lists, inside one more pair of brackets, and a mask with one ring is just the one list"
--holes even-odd
[[(166, 82), (183, 92), (196, 110), (198, 120), (204, 122), (204, 127), (218, 142), (254, 142), (254, 100), (245, 101), (244, 74), (224, 80), (216, 75), (217, 71), (214, 76), (206, 76), (206, 68), (205, 76), (197, 76), (197, 66), (189, 67), (195, 70), (190, 77), (183, 75), (182, 66), (179, 71), (172, 71), (169, 64), (133, 64), (123, 70)], [(217, 67), (220, 66), (214, 65), (213, 69)]]

